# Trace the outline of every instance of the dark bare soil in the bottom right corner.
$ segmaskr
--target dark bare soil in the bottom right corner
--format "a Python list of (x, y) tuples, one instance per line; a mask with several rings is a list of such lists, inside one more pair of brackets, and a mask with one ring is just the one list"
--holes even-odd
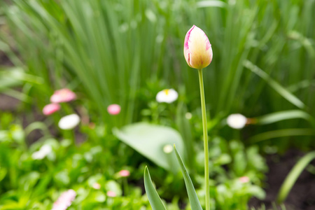
[[(294, 167), (297, 160), (304, 153), (297, 150), (287, 151), (285, 155), (269, 155), (267, 156), (267, 165), (269, 172), (266, 174), (267, 183), (265, 186), (265, 200), (253, 198), (248, 203), (249, 207), (261, 207), (265, 204), (266, 209), (272, 209), (272, 203), (276, 201), (276, 196), (279, 192), (284, 179)], [(311, 163), (315, 164), (315, 161)], [(315, 174), (311, 174), (304, 170), (300, 174), (292, 190), (288, 194), (284, 202), (287, 210), (314, 210), (315, 209)]]

